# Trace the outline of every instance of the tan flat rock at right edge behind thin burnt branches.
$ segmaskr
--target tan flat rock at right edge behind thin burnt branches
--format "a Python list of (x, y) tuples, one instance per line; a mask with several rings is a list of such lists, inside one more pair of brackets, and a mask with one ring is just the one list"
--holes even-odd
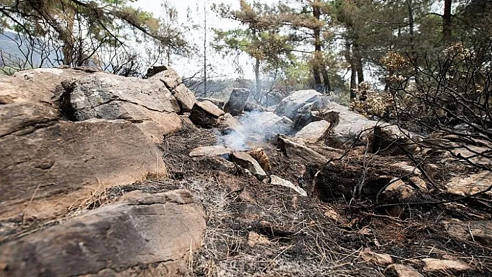
[[(489, 171), (482, 171), (477, 174), (471, 174), (468, 177), (456, 176), (451, 178), (445, 184), (446, 190), (449, 193), (461, 196), (468, 196), (477, 192), (487, 190), (492, 185), (492, 174)], [(492, 195), (492, 192), (486, 192), (487, 195)]]

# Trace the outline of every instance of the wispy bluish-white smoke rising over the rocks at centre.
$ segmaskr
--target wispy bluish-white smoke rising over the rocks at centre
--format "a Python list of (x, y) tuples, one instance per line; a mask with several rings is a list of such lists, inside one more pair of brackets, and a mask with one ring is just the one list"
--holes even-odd
[(265, 142), (278, 134), (292, 131), (293, 122), (274, 112), (253, 110), (238, 118), (240, 126), (218, 132), (218, 144), (233, 150), (247, 150), (251, 144)]

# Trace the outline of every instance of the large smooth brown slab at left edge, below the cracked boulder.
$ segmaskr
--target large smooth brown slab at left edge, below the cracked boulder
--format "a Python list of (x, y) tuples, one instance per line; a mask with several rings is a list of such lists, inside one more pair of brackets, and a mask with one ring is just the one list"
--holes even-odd
[(79, 205), (95, 190), (165, 176), (161, 155), (129, 121), (60, 121), (4, 135), (0, 137), (0, 219), (22, 212), (52, 217)]

